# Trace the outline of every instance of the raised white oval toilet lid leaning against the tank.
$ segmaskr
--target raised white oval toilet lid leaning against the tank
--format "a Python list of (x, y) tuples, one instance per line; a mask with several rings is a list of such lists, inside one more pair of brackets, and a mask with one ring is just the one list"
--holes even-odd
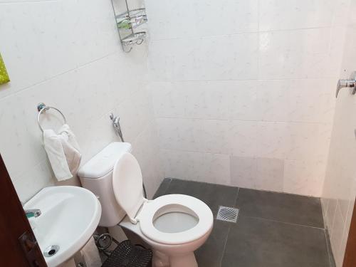
[(142, 173), (137, 159), (130, 153), (124, 153), (117, 159), (112, 171), (112, 187), (117, 203), (125, 210), (131, 221), (145, 198), (142, 192)]

